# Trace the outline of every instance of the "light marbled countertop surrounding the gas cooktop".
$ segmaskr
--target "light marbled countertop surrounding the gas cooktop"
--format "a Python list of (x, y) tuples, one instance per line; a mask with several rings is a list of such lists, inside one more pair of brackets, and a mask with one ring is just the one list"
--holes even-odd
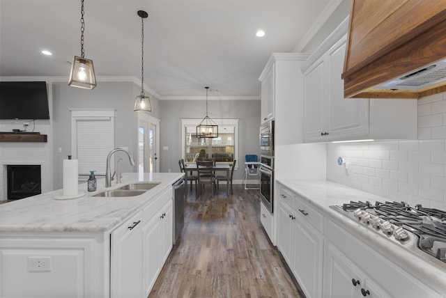
[(402, 269), (411, 272), (413, 276), (417, 276), (417, 278), (431, 285), (437, 291), (446, 293), (446, 264), (438, 265), (435, 262), (430, 262), (429, 258), (431, 256), (427, 255), (426, 258), (420, 258), (420, 256), (404, 249), (403, 246), (387, 240), (386, 237), (375, 233), (373, 230), (353, 219), (349, 219), (330, 207), (331, 205), (342, 205), (350, 201), (370, 201), (375, 203), (376, 201), (389, 201), (389, 199), (326, 180), (279, 180), (278, 182), (291, 191), (300, 194), (306, 203), (323, 213), (326, 218), (348, 230), (357, 239), (362, 240), (362, 242), (368, 244), (389, 260), (392, 260)]

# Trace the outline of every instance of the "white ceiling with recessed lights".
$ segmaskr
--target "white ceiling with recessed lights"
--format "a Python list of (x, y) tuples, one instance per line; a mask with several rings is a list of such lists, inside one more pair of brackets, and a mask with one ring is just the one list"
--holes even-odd
[[(96, 77), (141, 79), (137, 10), (146, 10), (144, 85), (160, 99), (202, 96), (204, 86), (214, 96), (258, 97), (270, 54), (302, 45), (330, 1), (85, 0), (85, 58)], [(80, 7), (80, 0), (1, 0), (0, 76), (68, 78), (81, 54)], [(257, 38), (258, 29), (266, 36)]]

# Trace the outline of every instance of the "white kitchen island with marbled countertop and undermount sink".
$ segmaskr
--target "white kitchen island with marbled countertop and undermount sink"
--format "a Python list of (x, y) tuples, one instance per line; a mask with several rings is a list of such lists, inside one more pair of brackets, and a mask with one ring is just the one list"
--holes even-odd
[[(79, 198), (51, 191), (0, 205), (0, 297), (147, 297), (173, 242), (172, 184), (182, 173), (125, 173)], [(98, 197), (135, 182), (138, 196)]]

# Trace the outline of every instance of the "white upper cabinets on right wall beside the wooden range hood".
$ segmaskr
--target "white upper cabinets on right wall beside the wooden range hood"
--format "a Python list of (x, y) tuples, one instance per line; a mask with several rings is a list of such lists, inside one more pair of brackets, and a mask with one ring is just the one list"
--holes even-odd
[(341, 24), (303, 67), (305, 142), (417, 139), (417, 100), (344, 98), (345, 32)]

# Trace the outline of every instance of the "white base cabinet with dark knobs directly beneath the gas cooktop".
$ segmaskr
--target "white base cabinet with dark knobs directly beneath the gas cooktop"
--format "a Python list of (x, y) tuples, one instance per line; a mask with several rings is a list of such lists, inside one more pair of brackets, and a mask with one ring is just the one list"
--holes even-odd
[(346, 230), (325, 222), (323, 297), (441, 297)]

